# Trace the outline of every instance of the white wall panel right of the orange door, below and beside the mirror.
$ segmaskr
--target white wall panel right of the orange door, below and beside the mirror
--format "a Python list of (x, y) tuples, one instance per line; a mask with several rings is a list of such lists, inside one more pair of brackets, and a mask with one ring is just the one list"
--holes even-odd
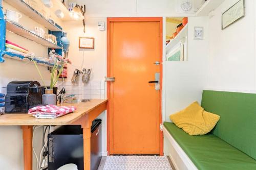
[[(203, 40), (194, 40), (194, 27), (204, 27)], [(189, 17), (188, 61), (165, 63), (166, 122), (170, 122), (170, 114), (190, 103), (201, 103), (202, 90), (206, 85), (208, 34), (208, 17)]]

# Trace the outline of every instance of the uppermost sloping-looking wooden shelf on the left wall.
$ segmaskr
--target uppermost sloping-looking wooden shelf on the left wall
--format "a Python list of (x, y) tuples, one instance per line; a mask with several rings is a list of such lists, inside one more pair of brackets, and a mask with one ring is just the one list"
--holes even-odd
[[(47, 18), (42, 16), (39, 12), (25, 3), (23, 0), (4, 0), (6, 3), (10, 4), (20, 12), (24, 13), (25, 15), (29, 16), (36, 22), (40, 23), (41, 25), (45, 26), (47, 29), (51, 31), (62, 31), (57, 26), (53, 25)], [(56, 1), (56, 0), (55, 0)]]

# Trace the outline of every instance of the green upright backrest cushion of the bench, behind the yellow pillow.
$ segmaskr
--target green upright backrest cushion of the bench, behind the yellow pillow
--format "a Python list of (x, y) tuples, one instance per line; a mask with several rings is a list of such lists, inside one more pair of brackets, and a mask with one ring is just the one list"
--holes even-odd
[(204, 90), (201, 105), (221, 116), (211, 133), (256, 160), (256, 94)]

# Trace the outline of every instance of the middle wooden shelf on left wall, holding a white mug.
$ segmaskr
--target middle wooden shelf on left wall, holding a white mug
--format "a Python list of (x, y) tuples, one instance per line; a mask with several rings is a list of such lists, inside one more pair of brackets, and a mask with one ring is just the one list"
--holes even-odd
[(61, 48), (60, 46), (44, 39), (44, 38), (41, 38), (39, 37), (38, 35), (34, 34), (34, 33), (31, 33), (30, 31), (26, 30), (25, 28), (23, 27), (19, 27), (17, 25), (15, 25), (14, 23), (11, 23), (9, 21), (6, 22), (6, 29), (8, 31), (11, 31), (15, 34), (18, 34), (22, 37), (25, 37), (29, 40), (32, 40), (32, 41), (35, 41), (41, 45), (44, 45), (46, 47), (49, 47), (49, 48), (56, 48), (56, 49), (59, 49)]

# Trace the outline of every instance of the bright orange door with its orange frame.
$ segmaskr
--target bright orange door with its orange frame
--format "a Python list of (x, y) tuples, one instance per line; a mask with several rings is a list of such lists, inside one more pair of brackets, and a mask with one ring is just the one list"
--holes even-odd
[(149, 81), (161, 73), (161, 26), (161, 18), (109, 18), (110, 154), (160, 154), (161, 90)]

